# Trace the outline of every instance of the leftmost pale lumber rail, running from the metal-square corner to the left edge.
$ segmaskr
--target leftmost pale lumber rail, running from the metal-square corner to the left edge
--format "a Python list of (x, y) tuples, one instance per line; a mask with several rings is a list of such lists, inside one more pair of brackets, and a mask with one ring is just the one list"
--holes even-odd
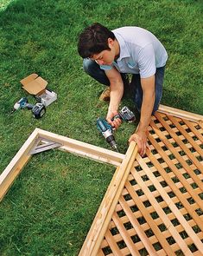
[(29, 151), (38, 139), (38, 130), (38, 128), (35, 128), (34, 132), (24, 142), (22, 148), (19, 149), (15, 157), (10, 161), (10, 164), (0, 175), (0, 201), (3, 200), (3, 196), (7, 193), (17, 175), (22, 171), (22, 167), (29, 161), (31, 156)]

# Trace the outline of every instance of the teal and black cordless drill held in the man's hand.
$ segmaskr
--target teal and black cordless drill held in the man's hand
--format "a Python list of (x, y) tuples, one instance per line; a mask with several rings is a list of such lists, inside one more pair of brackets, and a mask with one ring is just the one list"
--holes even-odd
[[(136, 120), (136, 117), (133, 114), (133, 112), (131, 112), (130, 109), (126, 106), (119, 111), (118, 115), (113, 117), (113, 120), (115, 120), (116, 118), (120, 118), (122, 121), (127, 121), (127, 122), (132, 122)], [(113, 135), (114, 128), (111, 127), (111, 124), (109, 124), (103, 118), (98, 118), (97, 128), (98, 128), (98, 131), (105, 137), (105, 140), (111, 145), (111, 147), (117, 150), (117, 143)]]

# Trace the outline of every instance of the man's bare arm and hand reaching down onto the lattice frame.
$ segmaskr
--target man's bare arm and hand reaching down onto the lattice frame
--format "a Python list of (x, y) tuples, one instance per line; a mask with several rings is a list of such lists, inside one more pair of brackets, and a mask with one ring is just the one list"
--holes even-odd
[(146, 153), (146, 148), (149, 148), (147, 142), (147, 129), (151, 114), (155, 104), (155, 75), (148, 78), (141, 78), (143, 89), (143, 103), (141, 108), (141, 117), (136, 134), (130, 136), (130, 141), (136, 141), (138, 152), (142, 156)]

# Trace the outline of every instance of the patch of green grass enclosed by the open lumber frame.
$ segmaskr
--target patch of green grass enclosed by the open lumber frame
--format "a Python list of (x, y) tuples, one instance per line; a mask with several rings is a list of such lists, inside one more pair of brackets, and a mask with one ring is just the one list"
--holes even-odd
[(76, 255), (111, 169), (58, 151), (36, 156), (1, 204), (1, 255)]

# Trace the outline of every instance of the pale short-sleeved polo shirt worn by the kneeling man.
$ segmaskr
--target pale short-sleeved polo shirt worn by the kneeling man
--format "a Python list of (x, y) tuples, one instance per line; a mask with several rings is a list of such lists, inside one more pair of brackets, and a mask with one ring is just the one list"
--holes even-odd
[(155, 69), (166, 65), (168, 54), (162, 43), (148, 30), (138, 27), (123, 27), (112, 30), (120, 46), (117, 62), (111, 66), (121, 73), (140, 74), (141, 78), (155, 75)]

